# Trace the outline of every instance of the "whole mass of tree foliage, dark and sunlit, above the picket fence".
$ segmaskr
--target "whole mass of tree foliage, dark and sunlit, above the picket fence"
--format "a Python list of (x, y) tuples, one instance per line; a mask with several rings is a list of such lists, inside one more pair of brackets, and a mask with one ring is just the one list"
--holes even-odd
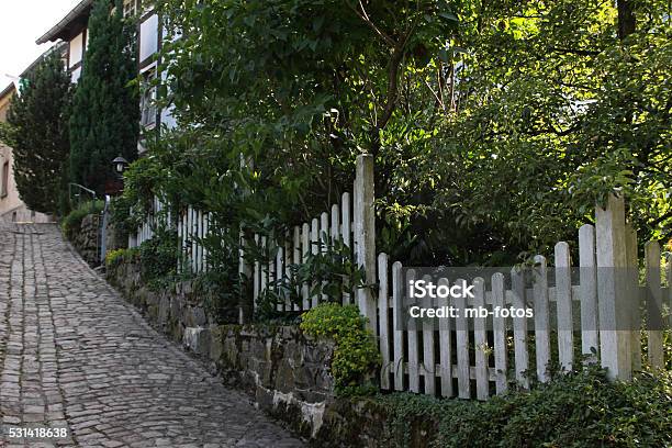
[(570, 239), (617, 190), (641, 234), (672, 236), (665, 2), (159, 9), (182, 36), (164, 48), (163, 101), (182, 125), (164, 145), (198, 160), (166, 187), (226, 198), (243, 228), (327, 210), (368, 152), (378, 244), (401, 261), (515, 262)]

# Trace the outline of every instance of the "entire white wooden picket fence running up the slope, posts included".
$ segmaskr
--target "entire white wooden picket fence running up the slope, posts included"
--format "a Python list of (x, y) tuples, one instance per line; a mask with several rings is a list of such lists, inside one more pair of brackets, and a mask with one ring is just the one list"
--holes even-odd
[[(160, 210), (160, 203), (156, 205)], [(179, 244), (193, 272), (208, 269), (208, 251), (198, 239), (208, 235), (209, 220), (206, 212), (193, 208), (178, 219)], [(392, 262), (387, 254), (376, 256), (374, 235), (373, 160), (362, 155), (357, 160), (352, 197), (344, 193), (329, 211), (292, 227), (285, 235), (242, 238), (239, 271), (251, 278), (253, 301), (258, 306), (267, 290), (278, 288), (276, 279), (291, 275), (292, 264), (305, 261), (309, 254), (324, 247), (318, 243), (340, 240), (351, 247), (357, 266), (366, 273), (365, 283), (377, 287), (346, 288), (350, 292), (344, 294), (341, 302), (357, 303), (368, 318), (380, 347), (383, 390), (485, 400), (504, 393), (512, 383), (529, 387), (530, 373), (539, 381), (548, 381), (550, 363), (569, 370), (579, 367), (579, 357), (584, 362), (596, 361), (597, 357), (613, 378), (629, 379), (634, 370), (641, 368), (642, 352), (640, 332), (628, 328), (634, 328), (634, 322), (641, 324), (642, 317), (648, 322), (661, 320), (663, 303), (672, 304), (670, 288), (661, 284), (661, 249), (656, 242), (645, 246), (646, 284), (639, 284), (636, 269), (629, 270), (635, 273), (627, 279), (601, 275), (601, 269), (625, 271), (639, 266), (637, 235), (626, 223), (623, 199), (615, 197), (606, 209), (596, 209), (595, 226), (584, 225), (579, 231), (581, 269), (573, 283), (570, 246), (560, 242), (555, 247), (553, 267), (548, 268), (542, 256), (535, 258), (533, 288), (512, 270), (511, 281), (502, 273), (489, 281), (474, 280), (474, 299), (444, 303), (458, 310), (527, 306), (534, 311), (533, 318), (466, 317), (461, 313), (460, 317), (441, 318), (438, 328), (430, 324), (416, 329), (399, 325), (405, 318), (401, 294), (408, 279), (402, 279), (400, 262)], [(147, 237), (152, 237), (152, 229), (143, 226), (137, 240), (142, 243)], [(254, 266), (247, 266), (245, 250), (253, 244), (275, 254), (273, 258), (257, 258)], [(668, 281), (672, 279), (670, 266), (665, 268)], [(549, 279), (555, 279), (552, 284)], [(646, 294), (653, 298), (656, 306), (649, 306), (642, 316)], [(306, 311), (325, 299), (311, 296), (307, 284), (301, 287), (299, 303), (290, 303), (289, 299), (278, 303), (278, 311)], [(664, 367), (662, 332), (650, 329), (647, 336), (648, 362)]]

